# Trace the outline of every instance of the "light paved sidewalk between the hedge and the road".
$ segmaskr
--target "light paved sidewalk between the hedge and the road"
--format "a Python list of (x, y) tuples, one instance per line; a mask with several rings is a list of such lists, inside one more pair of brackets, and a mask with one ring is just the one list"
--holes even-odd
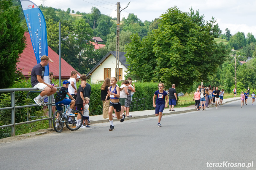
[[(240, 97), (223, 99), (222, 104), (229, 103), (231, 101), (236, 101), (236, 100), (240, 100)], [(210, 106), (210, 108), (207, 108), (207, 109), (211, 109), (212, 106), (215, 107), (215, 105), (209, 105), (209, 106)], [(186, 112), (190, 112), (190, 111), (196, 111), (196, 109), (194, 108), (194, 105), (187, 106), (187, 107), (175, 107), (174, 106), (174, 110), (175, 111), (169, 111), (169, 108), (164, 109), (163, 115), (180, 114), (180, 113), (186, 113)], [(129, 113), (132, 115), (132, 117), (125, 117), (125, 120), (140, 119), (140, 118), (146, 118), (146, 117), (155, 117), (155, 110), (130, 111)], [(113, 114), (113, 115), (115, 116), (115, 114)], [(102, 118), (102, 114), (95, 115), (95, 116), (89, 116), (89, 119), (90, 119), (91, 124), (92, 123), (109, 122), (109, 119)], [(113, 118), (113, 121), (120, 121), (120, 119), (118, 120), (117, 118)]]

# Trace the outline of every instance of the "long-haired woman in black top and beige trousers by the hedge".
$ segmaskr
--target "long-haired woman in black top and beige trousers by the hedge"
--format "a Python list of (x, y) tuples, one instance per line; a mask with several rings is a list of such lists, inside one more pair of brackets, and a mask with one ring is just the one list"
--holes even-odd
[(102, 101), (102, 117), (103, 119), (107, 119), (108, 112), (109, 112), (109, 96), (107, 98), (107, 101), (105, 100), (107, 94), (108, 94), (108, 87), (110, 87), (110, 79), (107, 77), (103, 84), (101, 85), (101, 101)]

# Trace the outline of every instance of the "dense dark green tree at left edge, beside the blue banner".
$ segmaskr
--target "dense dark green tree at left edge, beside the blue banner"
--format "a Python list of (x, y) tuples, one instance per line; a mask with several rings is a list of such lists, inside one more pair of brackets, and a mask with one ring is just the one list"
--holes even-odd
[(16, 63), (25, 48), (24, 30), (20, 26), (20, 10), (11, 0), (0, 1), (0, 78), (1, 88), (15, 80)]

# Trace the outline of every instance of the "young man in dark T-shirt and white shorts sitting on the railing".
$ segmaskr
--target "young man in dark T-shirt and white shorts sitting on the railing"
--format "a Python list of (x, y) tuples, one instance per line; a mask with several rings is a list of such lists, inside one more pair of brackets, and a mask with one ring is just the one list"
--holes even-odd
[(48, 56), (42, 56), (41, 62), (36, 64), (31, 70), (31, 85), (33, 88), (38, 88), (41, 93), (34, 98), (35, 103), (38, 106), (46, 106), (44, 98), (56, 93), (57, 88), (53, 85), (44, 82), (44, 66), (47, 66), (50, 58)]

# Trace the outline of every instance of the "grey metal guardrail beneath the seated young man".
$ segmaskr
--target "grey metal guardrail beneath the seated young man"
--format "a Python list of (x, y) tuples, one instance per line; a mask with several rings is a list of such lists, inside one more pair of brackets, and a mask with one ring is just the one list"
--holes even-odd
[[(61, 87), (56, 87), (56, 88), (60, 89)], [(15, 136), (15, 126), (20, 125), (20, 124), (27, 124), (27, 123), (38, 122), (38, 121), (42, 121), (42, 120), (49, 120), (49, 128), (52, 128), (52, 106), (54, 106), (54, 104), (50, 102), (50, 101), (52, 101), (52, 96), (51, 95), (48, 96), (48, 101), (49, 102), (45, 103), (46, 105), (49, 105), (49, 117), (48, 118), (15, 123), (15, 109), (38, 106), (37, 104), (29, 104), (29, 105), (24, 105), (24, 106), (15, 106), (15, 91), (31, 91), (31, 92), (28, 92), (28, 95), (30, 93), (35, 93), (35, 92), (40, 93), (41, 92), (37, 88), (11, 88), (11, 89), (6, 88), (6, 89), (0, 89), (0, 93), (4, 93), (4, 92), (10, 92), (11, 93), (11, 107), (0, 108), (0, 110), (11, 110), (11, 124), (0, 126), (0, 128), (12, 127), (12, 136)], [(27, 98), (28, 98), (28, 95), (27, 95)], [(28, 118), (27, 118), (27, 120), (28, 120)]]

